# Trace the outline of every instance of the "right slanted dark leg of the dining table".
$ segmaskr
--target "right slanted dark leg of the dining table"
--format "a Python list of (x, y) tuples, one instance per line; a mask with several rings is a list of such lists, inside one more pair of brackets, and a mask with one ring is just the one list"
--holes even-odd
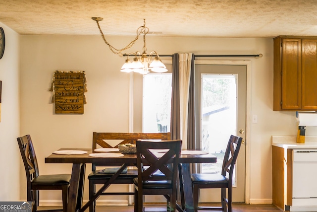
[(180, 163), (178, 168), (182, 209), (184, 212), (194, 212), (194, 199), (190, 173), (190, 164)]

